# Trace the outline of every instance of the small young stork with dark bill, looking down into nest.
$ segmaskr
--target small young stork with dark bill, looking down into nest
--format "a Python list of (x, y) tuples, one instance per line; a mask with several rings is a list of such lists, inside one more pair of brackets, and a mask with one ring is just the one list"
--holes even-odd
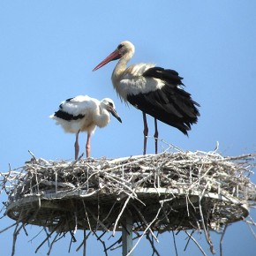
[(90, 157), (90, 139), (96, 126), (102, 128), (109, 124), (111, 113), (113, 117), (122, 123), (118, 116), (114, 102), (105, 98), (101, 102), (88, 95), (79, 95), (61, 102), (59, 109), (49, 116), (60, 124), (64, 132), (76, 134), (75, 140), (75, 160), (79, 156), (79, 132), (87, 132), (87, 158)]

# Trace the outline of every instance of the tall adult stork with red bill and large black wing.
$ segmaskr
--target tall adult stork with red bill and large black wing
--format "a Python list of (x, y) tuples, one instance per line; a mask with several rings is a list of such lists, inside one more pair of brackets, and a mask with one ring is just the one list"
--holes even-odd
[(113, 73), (112, 83), (124, 102), (130, 102), (143, 113), (144, 150), (147, 148), (147, 117), (154, 117), (155, 154), (157, 154), (157, 120), (176, 127), (187, 135), (191, 125), (196, 124), (200, 104), (192, 100), (191, 94), (184, 91), (178, 72), (156, 67), (154, 64), (133, 64), (127, 68), (135, 48), (131, 41), (122, 41), (93, 71), (119, 59)]

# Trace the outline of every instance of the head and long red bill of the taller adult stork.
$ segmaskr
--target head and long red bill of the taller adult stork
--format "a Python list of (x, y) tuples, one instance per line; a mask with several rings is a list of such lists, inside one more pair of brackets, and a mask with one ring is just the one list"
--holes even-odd
[(108, 64), (112, 60), (117, 60), (122, 57), (127, 57), (127, 59), (130, 59), (134, 52), (135, 47), (131, 41), (122, 41), (117, 46), (117, 49), (115, 49), (112, 53), (109, 54), (109, 56), (102, 60), (100, 64), (94, 67), (93, 72), (101, 68), (103, 65)]

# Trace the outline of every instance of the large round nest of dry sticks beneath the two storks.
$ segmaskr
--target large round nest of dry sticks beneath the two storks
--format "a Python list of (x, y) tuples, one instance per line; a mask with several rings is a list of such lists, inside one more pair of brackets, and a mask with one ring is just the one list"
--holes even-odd
[(133, 231), (223, 230), (249, 215), (256, 186), (255, 154), (216, 152), (139, 155), (119, 159), (46, 161), (34, 157), (2, 174), (6, 215), (53, 233), (109, 231), (132, 217)]

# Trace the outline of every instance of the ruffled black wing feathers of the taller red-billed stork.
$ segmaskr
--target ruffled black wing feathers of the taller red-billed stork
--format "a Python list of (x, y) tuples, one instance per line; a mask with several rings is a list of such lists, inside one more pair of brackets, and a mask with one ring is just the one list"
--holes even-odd
[(182, 78), (176, 71), (159, 67), (148, 69), (143, 76), (162, 79), (165, 86), (147, 94), (128, 94), (127, 101), (137, 109), (187, 134), (191, 125), (196, 124), (200, 117), (197, 109), (200, 104), (192, 100), (191, 94), (177, 87), (183, 85)]

